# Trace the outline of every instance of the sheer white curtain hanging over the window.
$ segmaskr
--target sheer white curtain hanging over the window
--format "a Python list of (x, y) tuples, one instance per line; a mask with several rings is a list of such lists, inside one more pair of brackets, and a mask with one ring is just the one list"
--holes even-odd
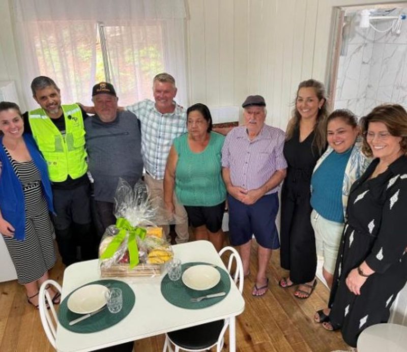
[(26, 106), (37, 106), (30, 83), (38, 75), (54, 79), (64, 103), (90, 104), (103, 64), (121, 105), (152, 98), (152, 78), (164, 71), (187, 105), (184, 0), (13, 0), (13, 14)]

